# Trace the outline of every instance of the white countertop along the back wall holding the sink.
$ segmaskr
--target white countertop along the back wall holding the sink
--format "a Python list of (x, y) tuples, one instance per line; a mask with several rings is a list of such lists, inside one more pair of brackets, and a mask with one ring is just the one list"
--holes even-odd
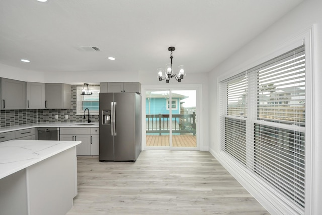
[(93, 127), (98, 128), (99, 123), (33, 123), (33, 124), (27, 124), (27, 125), (20, 125), (20, 126), (10, 126), (10, 127), (4, 127), (0, 129), (0, 133), (3, 132), (11, 132), (21, 129), (31, 129), (31, 128), (63, 128), (63, 127)]

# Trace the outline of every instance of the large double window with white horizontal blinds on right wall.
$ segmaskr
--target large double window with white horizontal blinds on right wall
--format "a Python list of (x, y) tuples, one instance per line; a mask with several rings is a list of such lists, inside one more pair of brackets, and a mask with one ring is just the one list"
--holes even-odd
[(305, 53), (300, 46), (220, 83), (221, 149), (305, 207)]

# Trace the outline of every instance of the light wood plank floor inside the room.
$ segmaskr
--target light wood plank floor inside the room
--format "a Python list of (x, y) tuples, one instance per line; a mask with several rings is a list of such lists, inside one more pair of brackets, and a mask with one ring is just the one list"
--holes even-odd
[(67, 215), (269, 214), (209, 152), (142, 151), (135, 163), (77, 157)]

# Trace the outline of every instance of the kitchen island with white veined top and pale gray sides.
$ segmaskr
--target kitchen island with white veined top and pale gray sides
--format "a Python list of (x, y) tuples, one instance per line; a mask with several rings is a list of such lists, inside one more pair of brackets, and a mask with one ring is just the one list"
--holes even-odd
[(65, 214), (77, 194), (81, 141), (0, 143), (0, 214)]

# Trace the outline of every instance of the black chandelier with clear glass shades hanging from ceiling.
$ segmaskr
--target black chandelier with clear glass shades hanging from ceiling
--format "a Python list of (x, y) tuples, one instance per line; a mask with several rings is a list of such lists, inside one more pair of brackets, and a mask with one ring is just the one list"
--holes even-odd
[[(158, 71), (157, 77), (158, 77), (159, 81), (166, 80), (167, 83), (169, 83), (170, 78), (173, 78), (173, 77), (175, 77), (178, 82), (181, 82), (181, 79), (183, 79), (183, 76), (185, 75), (185, 73), (184, 73), (185, 70), (184, 70), (183, 66), (179, 66), (179, 73), (176, 74), (176, 73), (173, 72), (173, 69), (172, 69), (172, 59), (173, 59), (172, 52), (175, 51), (176, 48), (171, 46), (171, 47), (168, 48), (168, 50), (171, 52), (171, 54), (170, 54), (171, 63), (166, 64), (166, 71), (163, 68), (158, 68), (157, 69), (157, 71)], [(163, 74), (164, 71), (165, 71), (165, 74)]]

